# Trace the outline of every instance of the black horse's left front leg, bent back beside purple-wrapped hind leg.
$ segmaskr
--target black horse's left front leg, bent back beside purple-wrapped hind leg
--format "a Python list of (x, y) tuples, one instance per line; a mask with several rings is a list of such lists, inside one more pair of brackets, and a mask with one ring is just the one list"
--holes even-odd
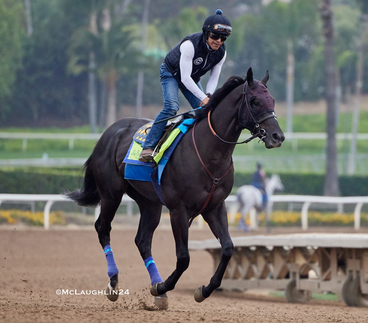
[(173, 230), (176, 249), (176, 268), (163, 282), (151, 287), (151, 294), (158, 296), (173, 290), (180, 276), (189, 266), (188, 229), (189, 223), (185, 208), (170, 210), (170, 222)]

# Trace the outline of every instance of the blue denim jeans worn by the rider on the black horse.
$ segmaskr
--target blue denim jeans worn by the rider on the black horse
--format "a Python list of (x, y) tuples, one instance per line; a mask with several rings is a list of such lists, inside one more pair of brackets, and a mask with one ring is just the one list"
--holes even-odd
[[(184, 97), (188, 100), (189, 104), (193, 109), (198, 108), (201, 104), (201, 100), (197, 98), (191, 91), (184, 89), (179, 85), (178, 81), (169, 72), (165, 63), (160, 66), (160, 78), (162, 85), (162, 95), (163, 95), (163, 109), (156, 116), (155, 121), (160, 121), (170, 116), (177, 114), (179, 110), (179, 89), (183, 93)], [(197, 83), (199, 89), (202, 89), (201, 83)], [(155, 149), (158, 141), (162, 135), (163, 129), (166, 126), (166, 121), (152, 125), (149, 133), (146, 137), (145, 142), (142, 144), (143, 149), (151, 148)]]

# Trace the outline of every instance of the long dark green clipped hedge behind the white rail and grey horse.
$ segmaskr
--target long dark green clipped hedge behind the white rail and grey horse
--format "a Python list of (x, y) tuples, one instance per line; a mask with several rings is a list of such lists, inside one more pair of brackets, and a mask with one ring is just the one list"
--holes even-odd
[[(270, 174), (268, 174), (270, 176)], [(322, 195), (324, 176), (318, 174), (279, 173), (283, 194)], [(235, 172), (234, 190), (251, 182), (251, 174)], [(0, 169), (0, 193), (59, 194), (82, 186), (83, 174), (75, 168), (4, 168)], [(368, 176), (340, 176), (342, 196), (367, 196)]]

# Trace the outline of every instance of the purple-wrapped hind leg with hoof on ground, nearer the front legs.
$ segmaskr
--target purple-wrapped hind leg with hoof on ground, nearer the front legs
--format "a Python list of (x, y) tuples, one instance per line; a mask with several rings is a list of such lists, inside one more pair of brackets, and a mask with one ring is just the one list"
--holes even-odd
[[(138, 232), (135, 236), (135, 244), (138, 247), (139, 253), (142, 256), (144, 264), (151, 278), (152, 286), (162, 282), (162, 278), (157, 269), (156, 263), (153, 260), (151, 246), (153, 232), (160, 223), (162, 205), (152, 202), (140, 194), (138, 191), (129, 189), (127, 194), (133, 198), (139, 207), (141, 218), (139, 219)], [(155, 296), (155, 305), (160, 309), (168, 309), (169, 301), (166, 293)]]

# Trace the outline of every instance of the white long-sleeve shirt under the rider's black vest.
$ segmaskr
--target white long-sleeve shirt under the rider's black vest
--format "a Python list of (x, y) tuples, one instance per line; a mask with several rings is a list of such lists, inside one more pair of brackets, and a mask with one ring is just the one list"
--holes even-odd
[[(194, 80), (191, 78), (193, 58), (194, 58), (194, 46), (189, 39), (185, 40), (185, 42), (183, 42), (180, 45), (180, 53), (181, 53), (180, 56), (181, 82), (197, 98), (203, 100), (204, 98), (207, 97), (206, 94), (199, 89), (197, 84), (194, 83)], [(213, 94), (213, 92), (216, 90), (217, 82), (219, 82), (222, 64), (224, 63), (225, 58), (226, 58), (226, 51), (222, 60), (211, 68), (211, 72), (206, 87), (206, 93)]]

